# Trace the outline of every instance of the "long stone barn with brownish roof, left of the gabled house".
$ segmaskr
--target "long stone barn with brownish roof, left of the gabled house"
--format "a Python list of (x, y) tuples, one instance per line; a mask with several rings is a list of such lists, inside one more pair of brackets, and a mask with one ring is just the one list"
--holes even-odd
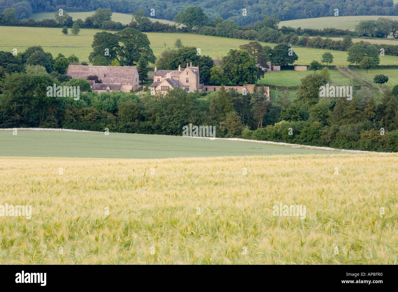
[(102, 92), (130, 92), (139, 87), (139, 75), (137, 67), (128, 66), (80, 66), (69, 65), (67, 75), (72, 78), (83, 78), (87, 80), (89, 75), (97, 75), (102, 83), (89, 80), (93, 90)]

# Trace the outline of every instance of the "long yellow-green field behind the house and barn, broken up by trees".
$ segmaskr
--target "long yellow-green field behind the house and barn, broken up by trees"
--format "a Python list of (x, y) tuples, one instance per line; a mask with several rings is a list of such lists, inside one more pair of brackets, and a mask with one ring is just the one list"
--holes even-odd
[[(80, 60), (88, 60), (88, 55), (92, 51), (91, 44), (95, 33), (100, 29), (82, 29), (78, 36), (64, 36), (58, 28), (38, 28), (38, 27), (0, 27), (0, 39), (3, 44), (16, 44), (16, 46), (0, 46), (0, 50), (12, 51), (17, 48), (19, 51), (25, 50), (25, 44), (63, 45), (60, 47), (45, 47), (45, 51), (51, 52), (53, 56), (59, 53), (69, 56), (75, 54)], [(174, 41), (181, 38), (186, 46), (197, 46), (201, 48), (202, 55), (209, 55), (212, 58), (221, 58), (226, 55), (230, 49), (237, 49), (241, 44), (249, 41), (240, 39), (228, 39), (224, 37), (212, 37), (205, 35), (195, 35), (191, 33), (146, 33), (151, 42), (152, 50), (155, 56), (159, 56), (165, 49), (166, 43), (173, 47)], [(274, 46), (275, 44), (263, 43), (262, 45)], [(67, 45), (85, 44), (85, 47), (66, 47)], [(315, 48), (293, 47), (298, 55), (295, 64), (309, 64), (312, 60), (320, 61), (324, 52), (331, 52), (334, 56), (336, 65), (347, 64), (347, 52), (336, 50), (322, 50)], [(384, 56), (380, 58), (380, 64), (398, 64), (398, 56)]]

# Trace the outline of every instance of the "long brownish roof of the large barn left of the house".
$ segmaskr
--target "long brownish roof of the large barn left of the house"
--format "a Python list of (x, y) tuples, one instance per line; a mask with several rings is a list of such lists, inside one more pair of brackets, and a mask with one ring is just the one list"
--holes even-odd
[[(69, 65), (67, 75), (72, 78), (87, 79), (88, 75), (97, 75), (107, 84), (133, 84), (137, 67), (129, 66), (80, 66)], [(101, 84), (101, 83), (100, 83)]]

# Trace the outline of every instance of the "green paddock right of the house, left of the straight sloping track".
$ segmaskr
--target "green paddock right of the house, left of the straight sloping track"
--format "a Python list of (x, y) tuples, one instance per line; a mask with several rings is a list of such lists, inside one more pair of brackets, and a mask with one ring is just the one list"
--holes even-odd
[[(316, 71), (317, 73), (320, 70)], [(332, 83), (336, 85), (341, 84), (353, 84), (354, 85), (362, 85), (364, 83), (356, 83), (353, 79), (346, 77), (343, 73), (338, 72), (337, 70), (329, 70), (330, 79), (332, 79)], [(307, 71), (294, 71), (294, 70), (281, 70), (278, 72), (269, 72), (264, 75), (263, 78), (258, 82), (259, 84), (269, 84), (276, 86), (298, 86), (301, 84), (301, 79), (309, 74), (314, 73), (313, 70)]]

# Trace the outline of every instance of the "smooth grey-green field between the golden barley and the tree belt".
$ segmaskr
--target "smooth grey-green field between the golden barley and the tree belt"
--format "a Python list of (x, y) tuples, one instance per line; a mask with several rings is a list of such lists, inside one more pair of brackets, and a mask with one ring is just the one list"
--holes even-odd
[[(191, 137), (70, 131), (0, 131), (0, 156), (170, 158), (277, 154), (328, 154), (337, 151), (298, 149)], [(182, 129), (181, 129), (182, 133)]]

